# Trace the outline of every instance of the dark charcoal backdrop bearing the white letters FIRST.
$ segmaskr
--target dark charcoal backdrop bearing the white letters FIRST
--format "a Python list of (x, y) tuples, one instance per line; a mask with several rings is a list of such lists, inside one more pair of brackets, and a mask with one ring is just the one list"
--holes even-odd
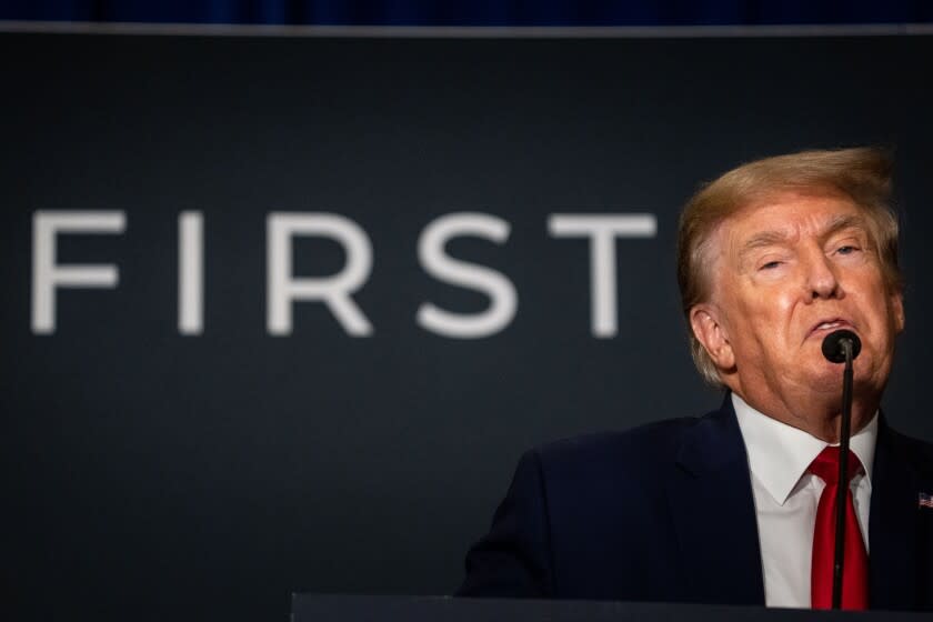
[[(442, 594), (519, 454), (560, 437), (700, 414), (675, 220), (748, 159), (864, 143), (896, 154), (907, 329), (885, 398), (922, 407), (933, 230), (931, 37), (573, 39), (0, 37), (3, 583), (18, 618), (284, 619), (291, 591)], [(30, 331), (36, 210), (123, 210), (62, 239), (119, 265)], [(177, 218), (205, 225), (205, 330), (177, 329)], [(438, 282), (435, 218), (511, 223), (450, 254), (506, 274), (503, 332), (414, 315), (485, 297)], [(265, 332), (265, 217), (354, 220), (374, 264), (351, 338), (321, 304)], [(618, 242), (619, 334), (590, 331), (589, 248), (551, 213), (649, 212)], [(299, 242), (297, 271), (342, 265)], [(4, 605), (6, 606), (6, 605)], [(131, 612), (131, 613), (130, 613)]]

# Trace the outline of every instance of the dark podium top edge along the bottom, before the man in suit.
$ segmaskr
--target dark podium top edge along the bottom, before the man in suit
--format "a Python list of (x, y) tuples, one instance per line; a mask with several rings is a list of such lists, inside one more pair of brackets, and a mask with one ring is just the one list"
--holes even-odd
[(291, 622), (929, 622), (930, 612), (683, 603), (293, 594)]

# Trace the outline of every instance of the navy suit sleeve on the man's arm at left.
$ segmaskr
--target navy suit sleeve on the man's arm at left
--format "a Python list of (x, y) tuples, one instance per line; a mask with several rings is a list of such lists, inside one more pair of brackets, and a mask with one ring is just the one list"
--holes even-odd
[(466, 553), (458, 596), (554, 596), (551, 533), (541, 458), (519, 461), (489, 533)]

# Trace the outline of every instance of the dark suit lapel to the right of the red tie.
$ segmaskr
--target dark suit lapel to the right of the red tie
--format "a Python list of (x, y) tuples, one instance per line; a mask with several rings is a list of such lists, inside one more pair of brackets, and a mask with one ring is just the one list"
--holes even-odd
[(904, 609), (920, 602), (917, 593), (916, 474), (899, 450), (895, 433), (884, 417), (879, 422), (872, 501), (869, 518), (872, 609)]

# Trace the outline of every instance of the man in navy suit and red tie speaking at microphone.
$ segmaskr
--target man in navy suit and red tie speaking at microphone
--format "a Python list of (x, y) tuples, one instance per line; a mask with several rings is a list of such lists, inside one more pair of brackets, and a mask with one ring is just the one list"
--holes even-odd
[(904, 327), (889, 187), (884, 154), (846, 149), (701, 189), (678, 275), (722, 408), (526, 453), (459, 594), (830, 606), (842, 367), (821, 345), (847, 329), (843, 606), (933, 609), (933, 445), (879, 412)]

